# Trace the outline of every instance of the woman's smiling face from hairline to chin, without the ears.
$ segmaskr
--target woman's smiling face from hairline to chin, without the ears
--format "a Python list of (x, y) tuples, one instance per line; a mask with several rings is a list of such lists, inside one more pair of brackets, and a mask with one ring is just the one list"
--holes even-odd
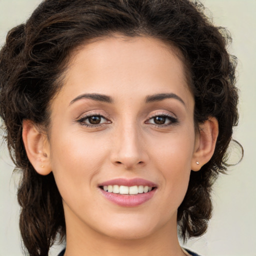
[(197, 144), (184, 73), (175, 49), (154, 38), (105, 38), (75, 52), (48, 141), (67, 231), (176, 229)]

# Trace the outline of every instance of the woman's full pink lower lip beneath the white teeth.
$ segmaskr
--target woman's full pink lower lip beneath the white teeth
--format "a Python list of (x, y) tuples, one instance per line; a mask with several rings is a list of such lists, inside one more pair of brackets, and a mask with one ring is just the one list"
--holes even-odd
[(148, 201), (150, 198), (152, 198), (156, 190), (156, 188), (154, 188), (153, 190), (147, 193), (138, 193), (134, 195), (128, 195), (128, 194), (110, 193), (110, 192), (104, 191), (101, 188), (99, 189), (107, 200), (123, 207), (135, 207)]

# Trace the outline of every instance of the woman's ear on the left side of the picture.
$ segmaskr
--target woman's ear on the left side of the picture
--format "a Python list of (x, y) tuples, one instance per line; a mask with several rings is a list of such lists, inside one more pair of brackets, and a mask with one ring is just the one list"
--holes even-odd
[(37, 173), (47, 175), (51, 172), (50, 147), (47, 135), (40, 132), (30, 120), (23, 120), (22, 138), (27, 157)]

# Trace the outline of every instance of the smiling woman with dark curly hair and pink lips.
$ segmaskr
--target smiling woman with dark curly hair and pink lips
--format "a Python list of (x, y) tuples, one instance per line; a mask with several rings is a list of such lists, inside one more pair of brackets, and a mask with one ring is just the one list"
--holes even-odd
[[(46, 0), (0, 52), (30, 255), (196, 255), (237, 124), (224, 31), (186, 0)], [(100, 245), (100, 246), (99, 246)]]

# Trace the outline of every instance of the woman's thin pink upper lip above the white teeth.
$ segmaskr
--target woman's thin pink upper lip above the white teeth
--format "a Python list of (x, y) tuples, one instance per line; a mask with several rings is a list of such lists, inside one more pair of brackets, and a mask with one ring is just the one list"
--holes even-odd
[(107, 181), (104, 181), (99, 184), (99, 186), (107, 186), (107, 185), (123, 185), (123, 186), (135, 186), (135, 185), (143, 185), (143, 186), (150, 186), (155, 187), (156, 184), (150, 180), (146, 180), (143, 178), (114, 178)]

